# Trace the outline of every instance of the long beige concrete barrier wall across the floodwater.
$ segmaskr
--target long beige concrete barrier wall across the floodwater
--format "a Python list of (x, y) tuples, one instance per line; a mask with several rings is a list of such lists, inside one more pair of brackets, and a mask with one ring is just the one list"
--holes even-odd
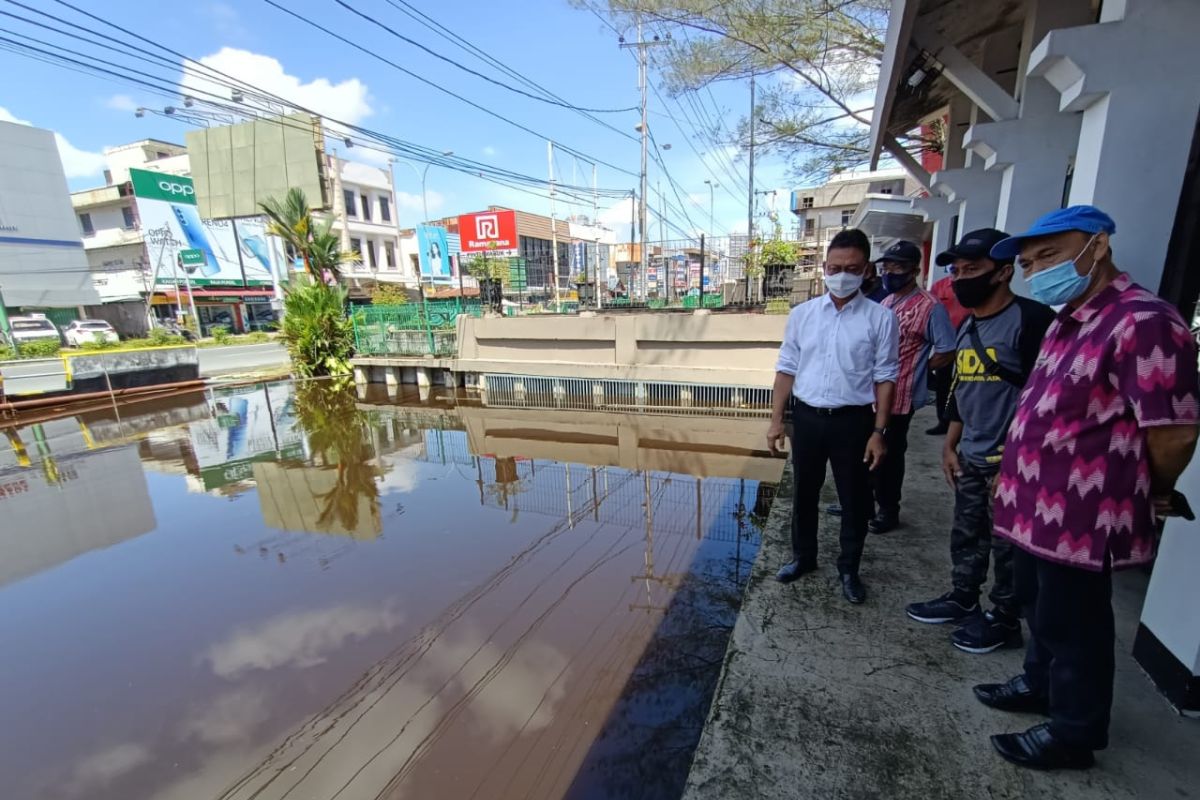
[(456, 369), (770, 386), (787, 317), (458, 318)]

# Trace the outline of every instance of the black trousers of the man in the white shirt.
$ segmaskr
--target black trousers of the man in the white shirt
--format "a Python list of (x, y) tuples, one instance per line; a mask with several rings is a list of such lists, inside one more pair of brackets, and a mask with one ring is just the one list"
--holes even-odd
[(875, 427), (875, 414), (863, 408), (827, 416), (797, 403), (792, 414), (792, 554), (799, 560), (816, 559), (817, 519), (826, 464), (841, 503), (841, 553), (838, 572), (858, 575), (871, 517), (870, 471), (863, 463), (866, 441)]

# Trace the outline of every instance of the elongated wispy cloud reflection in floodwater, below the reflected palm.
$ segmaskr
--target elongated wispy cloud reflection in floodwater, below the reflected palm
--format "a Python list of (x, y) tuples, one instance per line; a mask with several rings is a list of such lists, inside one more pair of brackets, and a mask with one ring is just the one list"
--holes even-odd
[(236, 678), (256, 669), (304, 669), (324, 663), (330, 652), (348, 642), (365, 639), (403, 621), (392, 602), (379, 608), (335, 606), (320, 610), (272, 616), (250, 628), (239, 628), (204, 655), (221, 678)]

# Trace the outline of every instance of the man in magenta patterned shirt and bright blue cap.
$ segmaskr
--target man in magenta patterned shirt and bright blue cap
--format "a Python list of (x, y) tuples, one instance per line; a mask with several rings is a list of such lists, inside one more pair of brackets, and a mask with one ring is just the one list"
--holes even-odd
[(992, 247), (1036, 300), (1063, 308), (1046, 331), (1009, 428), (995, 533), (1016, 546), (1030, 643), (1025, 672), (974, 687), (1049, 723), (992, 736), (1007, 760), (1084, 769), (1108, 745), (1112, 570), (1153, 558), (1157, 523), (1196, 443), (1195, 343), (1178, 312), (1112, 263), (1112, 219), (1093, 206), (1039, 218)]

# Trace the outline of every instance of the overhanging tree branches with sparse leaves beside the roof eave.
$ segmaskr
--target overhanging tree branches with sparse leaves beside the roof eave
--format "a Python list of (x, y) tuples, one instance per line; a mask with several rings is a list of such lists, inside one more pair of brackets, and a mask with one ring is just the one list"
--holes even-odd
[[(799, 176), (838, 173), (868, 156), (871, 103), (889, 0), (571, 0), (631, 29), (666, 30), (660, 67), (672, 95), (758, 80), (757, 145)], [(656, 56), (660, 54), (656, 50)], [(749, 119), (737, 126), (749, 143)], [(710, 131), (719, 139), (719, 131)], [(917, 142), (937, 148), (940, 143)]]

